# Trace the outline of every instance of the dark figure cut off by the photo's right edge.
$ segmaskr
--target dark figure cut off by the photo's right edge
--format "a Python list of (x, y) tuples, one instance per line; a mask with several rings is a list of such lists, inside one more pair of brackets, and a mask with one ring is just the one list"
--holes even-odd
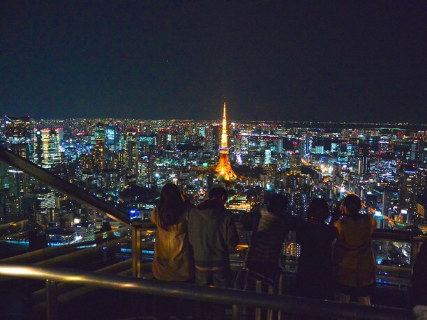
[(415, 259), (412, 269), (412, 292), (411, 305), (412, 313), (416, 319), (427, 319), (427, 244), (426, 241)]

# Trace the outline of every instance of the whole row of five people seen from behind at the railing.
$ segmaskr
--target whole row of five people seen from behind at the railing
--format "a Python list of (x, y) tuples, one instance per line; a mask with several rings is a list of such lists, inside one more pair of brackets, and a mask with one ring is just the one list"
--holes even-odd
[[(225, 208), (226, 201), (227, 190), (220, 187), (212, 188), (209, 199), (197, 206), (190, 204), (177, 185), (167, 183), (163, 187), (160, 204), (151, 214), (158, 230), (153, 277), (215, 287), (232, 285), (230, 250), (238, 245), (239, 234), (232, 213)], [(287, 214), (284, 195), (273, 195), (253, 219), (247, 268), (278, 280), (280, 250), (288, 231), (295, 230), (301, 245), (297, 294), (333, 299), (335, 293), (342, 302), (357, 296), (359, 303), (369, 305), (375, 287), (370, 241), (376, 222), (372, 216), (359, 213), (360, 209), (359, 197), (348, 195), (340, 204), (341, 217), (328, 224), (327, 202), (314, 199), (304, 221)], [(165, 311), (165, 304), (158, 309)], [(195, 319), (204, 319), (206, 309), (197, 304), (192, 310)], [(223, 306), (211, 305), (209, 309), (213, 311), (211, 319), (223, 319)]]

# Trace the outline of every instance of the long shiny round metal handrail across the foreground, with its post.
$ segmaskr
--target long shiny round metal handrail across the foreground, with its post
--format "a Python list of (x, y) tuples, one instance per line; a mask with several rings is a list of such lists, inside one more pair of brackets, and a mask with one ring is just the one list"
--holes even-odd
[[(194, 284), (160, 282), (157, 280), (105, 275), (63, 268), (47, 268), (25, 264), (0, 262), (0, 275), (45, 280), (47, 289), (48, 319), (57, 314), (57, 299), (54, 297), (57, 282), (68, 282), (88, 287), (129, 291), (154, 296), (186, 298), (208, 303), (244, 305), (267, 310), (279, 310), (287, 314), (346, 318), (346, 319), (411, 319), (410, 313), (401, 308), (363, 306), (327, 300), (259, 294), (237, 289), (202, 287)], [(52, 309), (50, 309), (52, 308)]]

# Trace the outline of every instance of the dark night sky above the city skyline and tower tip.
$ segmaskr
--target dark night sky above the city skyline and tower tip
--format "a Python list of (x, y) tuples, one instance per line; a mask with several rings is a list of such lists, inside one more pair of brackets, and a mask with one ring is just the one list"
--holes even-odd
[(0, 3), (0, 114), (427, 123), (427, 1)]

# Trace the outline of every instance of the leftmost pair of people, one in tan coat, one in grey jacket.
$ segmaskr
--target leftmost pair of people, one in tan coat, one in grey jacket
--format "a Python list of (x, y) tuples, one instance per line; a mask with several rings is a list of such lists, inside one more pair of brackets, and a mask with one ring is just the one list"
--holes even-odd
[[(193, 206), (177, 185), (167, 183), (160, 192), (160, 204), (151, 213), (156, 224), (153, 277), (157, 280), (190, 282), (204, 286), (230, 287), (232, 273), (230, 250), (239, 244), (239, 234), (231, 211), (225, 208), (227, 190), (212, 188), (209, 199)], [(164, 301), (163, 301), (164, 302)], [(157, 316), (167, 318), (167, 304), (156, 307)], [(173, 313), (183, 313), (181, 303)], [(224, 319), (222, 305), (209, 308), (196, 304), (195, 319), (204, 319), (209, 309), (211, 319)]]

